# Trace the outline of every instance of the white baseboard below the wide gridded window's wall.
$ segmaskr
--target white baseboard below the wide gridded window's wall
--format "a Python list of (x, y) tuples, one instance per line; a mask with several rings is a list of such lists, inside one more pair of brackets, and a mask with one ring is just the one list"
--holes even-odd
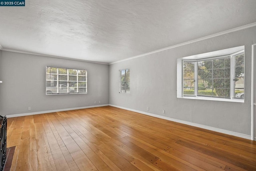
[(109, 104), (105, 105), (94, 105), (94, 106), (85, 106), (85, 107), (74, 107), (74, 108), (68, 108), (68, 109), (56, 109), (56, 110), (48, 110), (48, 111), (37, 111), (37, 112), (31, 112), (31, 113), (20, 113), (20, 114), (14, 114), (14, 115), (6, 115), (7, 118), (9, 117), (19, 117), (19, 116), (28, 116), (28, 115), (38, 115), (43, 113), (52, 113), (52, 112), (58, 112), (58, 111), (68, 111), (68, 110), (77, 110), (77, 109), (87, 109), (92, 107), (103, 107), (108, 106)]

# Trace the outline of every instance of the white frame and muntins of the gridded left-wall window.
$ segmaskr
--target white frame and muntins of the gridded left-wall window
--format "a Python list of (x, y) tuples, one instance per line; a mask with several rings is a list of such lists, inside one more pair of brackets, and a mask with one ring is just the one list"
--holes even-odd
[[(54, 73), (47, 73), (48, 68), (56, 68), (56, 74)], [(60, 74), (59, 73), (59, 69), (64, 69), (66, 70), (66, 74)], [(70, 74), (69, 70), (76, 70), (76, 75), (75, 74)], [(85, 75), (79, 75), (79, 71), (85, 72)], [(48, 76), (51, 75), (56, 75), (56, 80), (49, 80)], [(67, 76), (67, 80), (60, 80), (59, 76)], [(70, 80), (70, 76), (76, 76), (76, 80)], [(83, 81), (79, 81), (79, 77), (85, 77), (85, 80)], [(57, 95), (57, 94), (86, 94), (88, 93), (88, 87), (87, 87), (87, 79), (88, 79), (88, 72), (87, 70), (84, 69), (74, 69), (74, 68), (62, 68), (62, 67), (52, 67), (52, 66), (46, 66), (46, 95)], [(53, 81), (56, 82), (56, 86), (47, 86), (49, 81)], [(62, 86), (62, 84), (60, 84), (60, 82), (67, 82), (67, 85), (65, 85), (65, 88), (67, 88), (67, 92), (59, 92), (60, 88)], [(76, 87), (72, 87), (70, 86), (70, 82), (76, 82)], [(85, 86), (79, 86), (79, 83), (85, 83)], [(51, 83), (52, 84), (52, 83)], [(55, 85), (55, 84), (54, 84)], [(56, 88), (56, 93), (51, 92), (48, 93), (49, 91), (51, 91), (53, 88)], [(74, 92), (70, 92), (70, 89), (74, 88)], [(79, 88), (85, 88), (86, 91), (85, 92), (79, 92)], [(51, 90), (49, 90), (51, 89)], [(76, 91), (76, 92), (75, 92)]]

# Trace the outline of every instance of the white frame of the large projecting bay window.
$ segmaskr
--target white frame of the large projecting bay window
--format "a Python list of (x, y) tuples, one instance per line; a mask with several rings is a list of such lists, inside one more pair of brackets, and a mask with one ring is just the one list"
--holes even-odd
[[(242, 47), (242, 46), (240, 46)], [(243, 46), (244, 47), (244, 46)], [(232, 49), (232, 48), (230, 48)], [(223, 50), (220, 50), (223, 51)], [(217, 52), (217, 51), (216, 51)], [(210, 53), (210, 52), (209, 52)], [(206, 53), (206, 54), (209, 54)], [(200, 56), (200, 58), (195, 58), (195, 56), (189, 56), (185, 58), (178, 58), (177, 60), (177, 98), (186, 98), (186, 99), (204, 99), (204, 100), (214, 100), (214, 101), (234, 101), (234, 102), (244, 102), (244, 98), (236, 97), (235, 93), (235, 57), (244, 54), (245, 60), (245, 52), (243, 50), (239, 50), (237, 52), (232, 52), (230, 54), (224, 54), (222, 56), (210, 56), (203, 57), (203, 54), (196, 55), (196, 57)], [(190, 58), (191, 57), (191, 58)], [(222, 59), (222, 58), (230, 58), (230, 97), (218, 97), (218, 96), (207, 96), (207, 95), (198, 95), (198, 62), (206, 61), (206, 60), (215, 60), (215, 59)], [(184, 95), (184, 76), (183, 76), (183, 67), (184, 63), (186, 62), (194, 62), (194, 95)], [(244, 64), (245, 68), (245, 64)], [(244, 91), (245, 91), (245, 84), (244, 84)]]

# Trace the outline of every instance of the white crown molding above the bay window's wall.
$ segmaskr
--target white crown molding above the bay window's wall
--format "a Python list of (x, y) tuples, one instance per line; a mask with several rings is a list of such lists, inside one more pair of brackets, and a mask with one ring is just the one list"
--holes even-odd
[(126, 58), (124, 60), (119, 60), (119, 61), (116, 61), (116, 62), (111, 62), (111, 63), (109, 63), (109, 65), (116, 64), (116, 63), (119, 63), (119, 62), (124, 62), (124, 61), (131, 60), (131, 59), (134, 59), (134, 58), (139, 58), (139, 57), (150, 55), (150, 54), (154, 54), (154, 53), (161, 52), (161, 51), (164, 51), (164, 50), (177, 48), (177, 47), (184, 46), (184, 45), (187, 45), (187, 44), (192, 44), (192, 43), (195, 43), (195, 42), (199, 42), (199, 41), (202, 41), (202, 40), (214, 38), (214, 37), (217, 37), (217, 36), (222, 36), (224, 34), (236, 32), (236, 31), (239, 31), (239, 30), (244, 30), (246, 28), (251, 28), (251, 27), (255, 27), (255, 26), (256, 26), (256, 22), (254, 22), (252, 24), (247, 24), (245, 26), (240, 26), (240, 27), (237, 27), (237, 28), (232, 28), (232, 29), (226, 30), (224, 32), (219, 32), (219, 33), (216, 33), (216, 34), (212, 34), (212, 35), (209, 35), (209, 36), (205, 36), (205, 37), (202, 37), (202, 38), (191, 40), (191, 41), (188, 41), (188, 42), (184, 42), (184, 43), (181, 43), (181, 44), (176, 44), (174, 46), (169, 46), (167, 48), (162, 48), (162, 49), (155, 50), (155, 51), (152, 51), (152, 52), (148, 52), (148, 53), (145, 53), (145, 54), (137, 55), (137, 56), (134, 56), (134, 57), (131, 57), (131, 58)]

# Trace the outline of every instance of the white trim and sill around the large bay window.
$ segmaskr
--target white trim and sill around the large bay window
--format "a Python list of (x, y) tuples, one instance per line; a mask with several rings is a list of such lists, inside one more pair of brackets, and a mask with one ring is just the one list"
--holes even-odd
[[(237, 49), (241, 49), (243, 48), (243, 50), (239, 50), (237, 51)], [(232, 101), (232, 102), (240, 102), (240, 103), (244, 103), (244, 99), (239, 99), (239, 98), (235, 98), (235, 93), (233, 91), (231, 91), (230, 97), (231, 98), (221, 98), (221, 97), (206, 97), (206, 96), (197, 96), (197, 69), (195, 67), (195, 79), (196, 79), (196, 84), (195, 84), (195, 95), (191, 95), (191, 96), (184, 96), (183, 95), (183, 62), (198, 62), (198, 61), (202, 61), (202, 60), (211, 60), (211, 59), (218, 59), (218, 58), (225, 58), (225, 56), (231, 56), (231, 61), (230, 61), (230, 70), (233, 71), (230, 74), (230, 89), (234, 89), (234, 84), (233, 84), (233, 78), (234, 78), (234, 56), (236, 56), (237, 54), (240, 54), (242, 52), (244, 52), (244, 46), (239, 46), (236, 48), (230, 48), (227, 49), (230, 50), (231, 53), (229, 55), (224, 54), (222, 56), (210, 56), (210, 54), (219, 54), (221, 51), (215, 51), (215, 52), (209, 52), (209, 53), (205, 53), (205, 54), (199, 54), (199, 55), (194, 55), (194, 56), (189, 56), (189, 57), (184, 57), (184, 58), (178, 58), (177, 59), (177, 98), (183, 98), (183, 99), (200, 99), (200, 100), (212, 100), (212, 101)], [(233, 50), (233, 52), (232, 52)], [(236, 50), (236, 52), (234, 52), (234, 50)], [(225, 50), (226, 52), (226, 50)], [(209, 58), (207, 56), (210, 56)]]

